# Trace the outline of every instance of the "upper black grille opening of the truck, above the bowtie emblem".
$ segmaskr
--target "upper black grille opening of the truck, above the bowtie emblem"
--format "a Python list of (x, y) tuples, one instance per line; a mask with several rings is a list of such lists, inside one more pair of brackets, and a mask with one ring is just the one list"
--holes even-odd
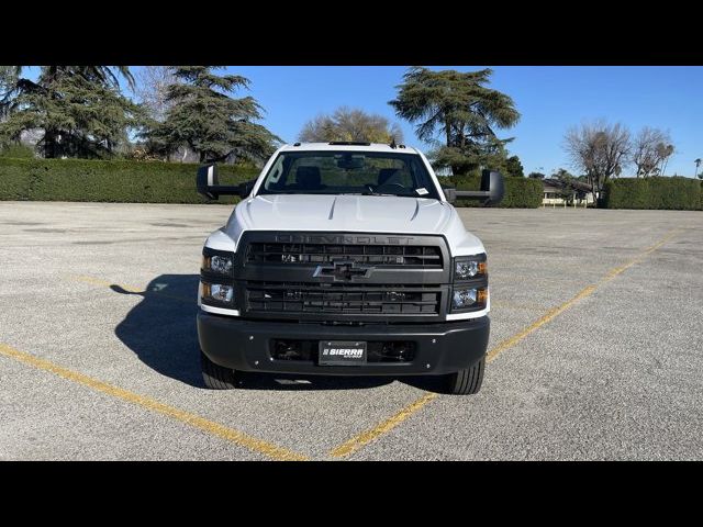
[(299, 266), (342, 259), (376, 267), (414, 266), (423, 269), (442, 269), (443, 266), (439, 247), (422, 245), (252, 243), (246, 258), (247, 262), (252, 264)]

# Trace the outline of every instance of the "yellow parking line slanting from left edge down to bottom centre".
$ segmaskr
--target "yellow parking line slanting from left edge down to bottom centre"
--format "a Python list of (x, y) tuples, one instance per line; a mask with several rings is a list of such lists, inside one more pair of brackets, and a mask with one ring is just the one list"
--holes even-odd
[(63, 377), (64, 379), (68, 379), (70, 381), (77, 382), (78, 384), (82, 384), (83, 386), (88, 386), (97, 392), (112, 395), (113, 397), (121, 399), (153, 412), (158, 412), (159, 414), (166, 415), (176, 421), (180, 421), (181, 423), (190, 425), (193, 428), (198, 428), (213, 436), (221, 437), (222, 439), (226, 439), (227, 441), (231, 441), (239, 447), (247, 448), (256, 453), (260, 453), (268, 458), (281, 461), (308, 460), (308, 458), (301, 453), (297, 453), (286, 448), (278, 447), (261, 439), (256, 439), (255, 437), (247, 436), (246, 434), (235, 430), (234, 428), (230, 428), (227, 426), (221, 425), (220, 423), (205, 419), (204, 417), (191, 414), (190, 412), (169, 406), (168, 404), (160, 403), (159, 401), (156, 401), (154, 399), (130, 392), (129, 390), (124, 390), (112, 384), (108, 384), (107, 382), (99, 381), (77, 371), (72, 371), (55, 365), (54, 362), (51, 362), (46, 359), (40, 359), (38, 357), (26, 354), (24, 351), (20, 351), (5, 344), (0, 344), (0, 355), (4, 355), (5, 357), (19, 360), (20, 362), (24, 362), (25, 365), (38, 368), (40, 370), (49, 371), (56, 375)]

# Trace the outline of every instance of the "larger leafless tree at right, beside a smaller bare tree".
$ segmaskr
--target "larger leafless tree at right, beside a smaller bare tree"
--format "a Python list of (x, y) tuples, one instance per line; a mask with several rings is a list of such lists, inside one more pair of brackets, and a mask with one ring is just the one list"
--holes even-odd
[(620, 176), (629, 161), (629, 131), (620, 123), (582, 124), (570, 128), (565, 139), (565, 149), (574, 168), (585, 172), (594, 195), (599, 195), (609, 179)]

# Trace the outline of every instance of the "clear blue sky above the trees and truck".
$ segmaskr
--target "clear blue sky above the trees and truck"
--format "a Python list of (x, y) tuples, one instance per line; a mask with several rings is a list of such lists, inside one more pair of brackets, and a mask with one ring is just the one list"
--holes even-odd
[[(526, 172), (570, 168), (562, 149), (565, 132), (595, 119), (620, 121), (633, 132), (645, 125), (668, 131), (677, 152), (667, 175), (693, 176), (693, 160), (703, 158), (703, 67), (492, 69), (491, 87), (511, 96), (522, 114), (520, 123), (501, 136), (515, 137), (509, 149), (520, 156)], [(264, 124), (287, 142), (294, 142), (303, 123), (316, 114), (348, 105), (386, 115), (402, 126), (408, 145), (425, 147), (413, 126), (398, 120), (388, 104), (405, 67), (228, 66), (227, 70), (252, 81), (249, 93), (266, 109)]]

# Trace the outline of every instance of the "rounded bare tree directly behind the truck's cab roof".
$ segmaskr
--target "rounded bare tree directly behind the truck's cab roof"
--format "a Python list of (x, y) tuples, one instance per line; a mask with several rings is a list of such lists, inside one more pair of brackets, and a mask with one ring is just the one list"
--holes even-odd
[(341, 106), (332, 115), (317, 115), (306, 122), (299, 139), (305, 143), (328, 141), (361, 141), (369, 143), (401, 143), (403, 132), (383, 115)]

